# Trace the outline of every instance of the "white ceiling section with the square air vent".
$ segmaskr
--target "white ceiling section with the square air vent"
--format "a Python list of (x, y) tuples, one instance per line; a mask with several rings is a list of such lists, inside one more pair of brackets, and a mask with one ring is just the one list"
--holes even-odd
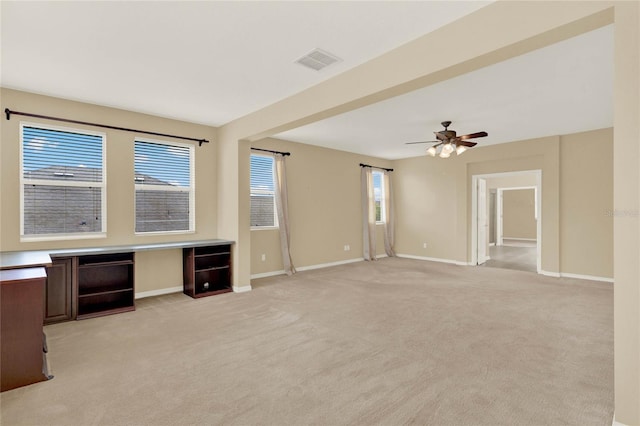
[(219, 126), (487, 3), (3, 1), (1, 84)]

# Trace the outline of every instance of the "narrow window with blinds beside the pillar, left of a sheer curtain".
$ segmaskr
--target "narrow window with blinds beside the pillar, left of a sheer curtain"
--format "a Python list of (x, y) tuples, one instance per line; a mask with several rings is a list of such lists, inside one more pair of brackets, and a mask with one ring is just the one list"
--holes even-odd
[(251, 227), (277, 227), (274, 160), (251, 155)]

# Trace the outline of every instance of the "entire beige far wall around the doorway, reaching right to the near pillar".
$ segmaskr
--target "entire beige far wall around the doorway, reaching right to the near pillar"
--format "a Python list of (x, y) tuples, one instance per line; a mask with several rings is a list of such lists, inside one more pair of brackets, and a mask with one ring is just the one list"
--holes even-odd
[[(542, 270), (611, 278), (613, 229), (605, 212), (613, 208), (613, 169), (607, 160), (612, 156), (612, 137), (611, 129), (602, 129), (474, 148), (446, 161), (427, 156), (394, 161), (396, 251), (466, 264), (471, 260), (472, 176), (542, 170)], [(585, 141), (585, 149), (579, 149), (577, 141)], [(603, 161), (598, 161), (595, 174), (585, 166), (597, 158)], [(509, 192), (513, 191), (505, 194)], [(600, 216), (579, 214), (580, 206), (589, 206)], [(535, 222), (530, 225), (530, 237), (520, 238), (536, 238)], [(585, 228), (593, 232), (571, 231)], [(508, 232), (505, 237), (514, 236)], [(585, 250), (585, 244), (591, 249)]]

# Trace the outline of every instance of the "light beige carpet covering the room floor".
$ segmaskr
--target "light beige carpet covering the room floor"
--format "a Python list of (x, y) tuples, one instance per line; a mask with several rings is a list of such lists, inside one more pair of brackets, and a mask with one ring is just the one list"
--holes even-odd
[(382, 259), (46, 327), (3, 425), (611, 425), (613, 286)]

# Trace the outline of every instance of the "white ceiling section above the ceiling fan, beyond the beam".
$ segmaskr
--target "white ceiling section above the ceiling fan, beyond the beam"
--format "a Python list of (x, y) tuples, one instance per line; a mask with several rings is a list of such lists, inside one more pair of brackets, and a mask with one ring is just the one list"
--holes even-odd
[(275, 137), (398, 159), (445, 120), (478, 146), (613, 126), (613, 26)]

